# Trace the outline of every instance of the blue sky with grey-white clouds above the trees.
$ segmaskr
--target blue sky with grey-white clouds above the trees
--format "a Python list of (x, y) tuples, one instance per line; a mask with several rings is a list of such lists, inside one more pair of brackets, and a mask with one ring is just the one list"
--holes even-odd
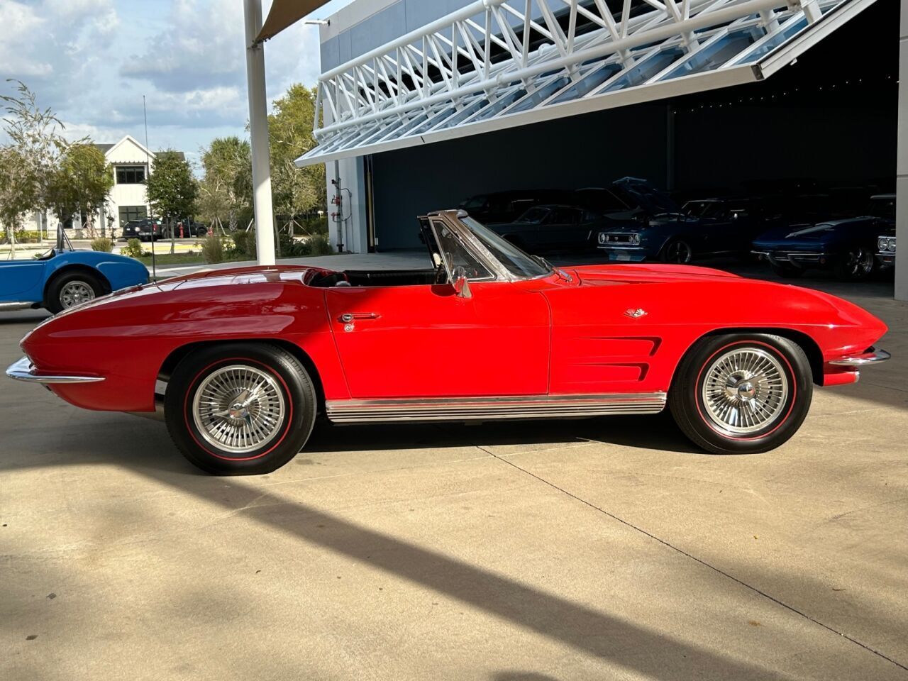
[[(330, 16), (350, 0), (331, 0)], [(0, 92), (23, 81), (66, 135), (143, 141), (195, 160), (249, 116), (242, 0), (0, 0)], [(271, 0), (262, 0), (267, 16)], [(291, 26), (265, 45), (269, 100), (319, 74), (319, 28)], [(2, 134), (2, 133), (0, 133)]]

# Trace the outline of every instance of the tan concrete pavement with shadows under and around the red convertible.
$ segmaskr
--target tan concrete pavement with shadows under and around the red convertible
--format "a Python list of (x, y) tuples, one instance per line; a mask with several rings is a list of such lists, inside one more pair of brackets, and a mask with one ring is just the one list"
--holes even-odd
[(861, 291), (893, 360), (758, 456), (662, 416), (322, 425), (217, 479), (5, 381), (0, 677), (906, 679), (908, 307)]

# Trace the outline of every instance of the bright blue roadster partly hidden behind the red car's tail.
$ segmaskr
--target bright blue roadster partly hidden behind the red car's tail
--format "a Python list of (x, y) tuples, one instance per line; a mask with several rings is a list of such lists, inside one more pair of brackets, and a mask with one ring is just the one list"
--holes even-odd
[(60, 230), (50, 251), (0, 260), (0, 311), (46, 308), (55, 314), (147, 281), (148, 270), (141, 262), (114, 253), (75, 251)]

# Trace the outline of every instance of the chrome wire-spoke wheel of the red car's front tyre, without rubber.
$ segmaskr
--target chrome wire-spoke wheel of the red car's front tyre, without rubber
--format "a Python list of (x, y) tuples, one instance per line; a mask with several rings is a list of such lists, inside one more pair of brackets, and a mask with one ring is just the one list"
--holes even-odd
[(711, 361), (704, 375), (706, 418), (730, 437), (765, 430), (785, 410), (789, 379), (782, 363), (766, 350), (728, 350)]

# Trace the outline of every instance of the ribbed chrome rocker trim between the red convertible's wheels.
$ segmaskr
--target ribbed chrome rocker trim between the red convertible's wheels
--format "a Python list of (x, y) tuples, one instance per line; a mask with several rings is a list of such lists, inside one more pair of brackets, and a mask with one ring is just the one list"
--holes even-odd
[(665, 392), (422, 400), (328, 400), (325, 403), (328, 418), (334, 423), (569, 419), (610, 414), (657, 414), (665, 407)]

